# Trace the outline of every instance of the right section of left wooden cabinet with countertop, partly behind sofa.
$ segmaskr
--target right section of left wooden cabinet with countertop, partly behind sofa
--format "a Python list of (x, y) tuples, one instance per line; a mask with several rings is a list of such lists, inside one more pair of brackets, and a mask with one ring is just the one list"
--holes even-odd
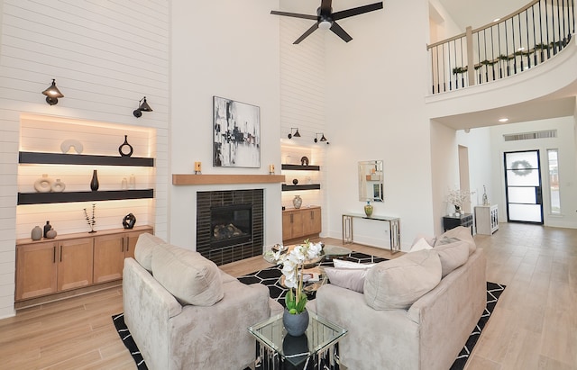
[(124, 258), (134, 257), (136, 241), (151, 228), (94, 238), (94, 284), (122, 279)]

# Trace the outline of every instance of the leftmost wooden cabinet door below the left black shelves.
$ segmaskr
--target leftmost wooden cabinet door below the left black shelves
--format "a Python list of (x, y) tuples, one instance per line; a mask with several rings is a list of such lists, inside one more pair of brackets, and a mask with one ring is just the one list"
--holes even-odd
[(57, 244), (24, 244), (16, 248), (16, 301), (56, 292)]

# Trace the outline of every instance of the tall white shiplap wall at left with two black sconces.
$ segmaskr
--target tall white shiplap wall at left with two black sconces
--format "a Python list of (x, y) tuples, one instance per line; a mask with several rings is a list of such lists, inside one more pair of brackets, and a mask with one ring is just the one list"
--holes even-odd
[[(4, 0), (0, 6), (0, 318), (3, 318), (14, 314), (17, 162), (22, 114), (154, 129), (156, 184), (151, 187), (155, 188), (155, 200), (151, 205), (134, 201), (130, 207), (142, 213), (143, 208), (153, 207), (154, 220), (149, 223), (157, 235), (166, 238), (170, 12), (169, 0)], [(52, 78), (56, 78), (65, 97), (50, 106), (41, 91), (50, 86)], [(137, 119), (133, 110), (142, 96), (147, 97), (154, 111)], [(96, 212), (102, 214), (103, 221), (115, 212), (108, 208), (114, 208), (114, 203), (99, 204)], [(53, 210), (50, 217), (44, 217), (42, 207), (34, 211), (30, 211), (32, 206), (20, 208), (27, 226), (37, 218), (41, 221), (60, 218)]]

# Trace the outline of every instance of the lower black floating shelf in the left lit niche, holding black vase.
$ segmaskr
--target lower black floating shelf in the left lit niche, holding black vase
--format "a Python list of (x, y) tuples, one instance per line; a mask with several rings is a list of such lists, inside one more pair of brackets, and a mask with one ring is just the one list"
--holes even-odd
[(146, 199), (153, 197), (153, 189), (105, 190), (96, 192), (18, 193), (18, 205), (119, 201), (124, 199)]

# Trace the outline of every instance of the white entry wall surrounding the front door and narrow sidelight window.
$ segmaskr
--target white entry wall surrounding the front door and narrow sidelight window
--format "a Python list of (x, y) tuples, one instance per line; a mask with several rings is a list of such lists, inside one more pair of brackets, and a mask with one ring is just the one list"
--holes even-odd
[[(503, 135), (530, 131), (557, 130), (557, 137), (551, 139), (505, 141)], [(541, 175), (543, 182), (544, 222), (545, 226), (577, 228), (577, 171), (575, 169), (575, 138), (573, 117), (555, 118), (523, 123), (511, 123), (490, 128), (491, 156), (495, 166), (492, 169), (493, 189), (491, 203), (499, 203), (499, 222), (507, 221), (505, 196), (505, 169), (503, 153), (506, 151), (540, 151)], [(558, 149), (559, 193), (561, 196), (561, 214), (552, 215), (550, 199), (546, 149)], [(499, 165), (497, 165), (499, 164)]]

